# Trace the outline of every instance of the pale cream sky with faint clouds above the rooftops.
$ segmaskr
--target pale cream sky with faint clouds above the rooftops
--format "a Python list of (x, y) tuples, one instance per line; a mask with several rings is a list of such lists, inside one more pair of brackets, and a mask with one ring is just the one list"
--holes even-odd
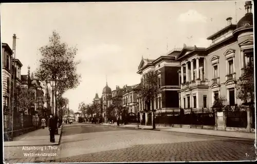
[(39, 67), (39, 48), (53, 30), (69, 47), (77, 47), (79, 87), (68, 90), (69, 108), (78, 111), (82, 101), (92, 103), (106, 85), (140, 83), (141, 58), (156, 59), (167, 50), (187, 46), (208, 47), (206, 38), (245, 14), (245, 1), (141, 2), (141, 3), (23, 3), (1, 4), (1, 38), (12, 47), (22, 74)]

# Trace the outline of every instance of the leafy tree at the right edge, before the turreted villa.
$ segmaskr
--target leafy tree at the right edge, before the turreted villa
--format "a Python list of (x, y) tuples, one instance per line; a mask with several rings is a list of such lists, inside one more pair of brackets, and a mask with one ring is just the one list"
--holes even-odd
[(236, 98), (241, 99), (244, 103), (254, 102), (254, 65), (253, 57), (244, 69), (244, 76), (237, 81)]

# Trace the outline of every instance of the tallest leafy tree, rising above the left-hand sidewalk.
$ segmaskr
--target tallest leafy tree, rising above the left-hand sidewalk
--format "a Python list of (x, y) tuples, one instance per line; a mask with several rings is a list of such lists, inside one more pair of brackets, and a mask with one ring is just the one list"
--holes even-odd
[(80, 83), (81, 75), (76, 72), (79, 61), (75, 61), (77, 48), (61, 43), (60, 35), (53, 31), (49, 44), (41, 47), (39, 51), (42, 57), (35, 76), (46, 83), (52, 78), (56, 81), (54, 92), (57, 101), (67, 90), (76, 88)]

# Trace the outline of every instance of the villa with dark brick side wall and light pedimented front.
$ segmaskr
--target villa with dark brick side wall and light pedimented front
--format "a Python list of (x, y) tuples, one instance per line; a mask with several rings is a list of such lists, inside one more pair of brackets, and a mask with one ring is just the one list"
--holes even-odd
[[(178, 71), (180, 62), (176, 57), (180, 54), (181, 49), (173, 49), (168, 55), (163, 55), (155, 60), (142, 58), (138, 67), (138, 74), (144, 75), (149, 71), (155, 71), (158, 74), (158, 87), (160, 92), (154, 100), (154, 109), (157, 113), (178, 113), (179, 112), (179, 93), (180, 84)], [(146, 111), (145, 102), (139, 99), (139, 109), (142, 111), (140, 119)], [(152, 109), (152, 104), (150, 109)], [(145, 116), (146, 117), (146, 116)]]

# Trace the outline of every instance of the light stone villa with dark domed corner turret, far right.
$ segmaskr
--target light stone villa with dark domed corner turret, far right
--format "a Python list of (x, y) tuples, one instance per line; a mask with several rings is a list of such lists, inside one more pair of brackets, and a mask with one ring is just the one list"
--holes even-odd
[(245, 3), (245, 16), (236, 25), (228, 17), (227, 26), (207, 39), (212, 44), (206, 48), (208, 105), (214, 96), (225, 96), (228, 105), (241, 104), (236, 98), (236, 81), (244, 75), (244, 68), (253, 57), (253, 15), (250, 1)]

